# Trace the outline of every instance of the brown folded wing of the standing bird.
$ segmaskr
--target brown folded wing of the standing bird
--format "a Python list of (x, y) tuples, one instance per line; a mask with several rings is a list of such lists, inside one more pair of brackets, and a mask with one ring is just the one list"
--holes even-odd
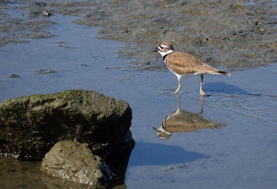
[(217, 73), (218, 70), (201, 62), (193, 55), (183, 52), (174, 52), (166, 57), (166, 65), (175, 73)]

